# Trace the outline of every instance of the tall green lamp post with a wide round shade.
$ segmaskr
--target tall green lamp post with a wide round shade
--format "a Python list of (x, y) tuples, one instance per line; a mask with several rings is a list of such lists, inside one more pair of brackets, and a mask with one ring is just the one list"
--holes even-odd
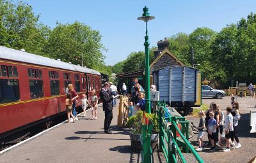
[(149, 46), (149, 41), (148, 41), (148, 30), (147, 30), (147, 22), (148, 20), (152, 20), (155, 17), (151, 17), (148, 13), (148, 8), (145, 6), (143, 8), (143, 14), (142, 17), (137, 18), (138, 20), (143, 20), (146, 22), (146, 36), (145, 36), (145, 80), (146, 80), (146, 85), (145, 85), (145, 93), (146, 93), (146, 112), (151, 113), (151, 106), (150, 106), (150, 78), (149, 78), (149, 57), (148, 57), (148, 46)]

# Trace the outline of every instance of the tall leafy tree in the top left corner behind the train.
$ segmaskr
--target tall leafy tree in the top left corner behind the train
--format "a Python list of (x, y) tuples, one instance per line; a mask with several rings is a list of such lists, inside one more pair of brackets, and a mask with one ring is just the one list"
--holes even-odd
[(38, 24), (39, 15), (33, 13), (33, 8), (29, 4), (22, 2), (12, 4), (12, 1), (2, 0), (0, 1), (0, 13), (1, 23), (10, 33), (10, 39), (19, 39), (19, 43), (12, 41), (12, 44), (9, 44), (10, 47), (24, 48), (26, 52), (43, 54), (42, 48), (47, 42), (47, 36), (40, 30), (45, 27)]

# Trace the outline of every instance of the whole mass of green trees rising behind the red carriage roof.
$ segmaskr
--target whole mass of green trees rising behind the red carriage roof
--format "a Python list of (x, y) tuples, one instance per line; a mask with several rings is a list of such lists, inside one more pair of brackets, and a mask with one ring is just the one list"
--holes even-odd
[(10, 48), (24, 48), (26, 52), (44, 55), (64, 62), (96, 69), (111, 74), (111, 67), (104, 65), (99, 31), (81, 22), (59, 24), (50, 29), (38, 23), (39, 15), (27, 4), (0, 1), (0, 45)]

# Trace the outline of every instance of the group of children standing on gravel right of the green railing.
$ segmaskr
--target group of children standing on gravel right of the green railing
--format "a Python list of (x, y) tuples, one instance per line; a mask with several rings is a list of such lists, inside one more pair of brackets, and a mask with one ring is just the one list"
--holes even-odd
[[(231, 106), (226, 108), (227, 115), (224, 116), (223, 111), (220, 110), (220, 105), (211, 103), (207, 111), (200, 111), (198, 116), (200, 122), (198, 127), (198, 145), (196, 151), (204, 151), (204, 129), (207, 129), (207, 137), (209, 139), (210, 151), (215, 151), (217, 143), (223, 139), (223, 129), (225, 128), (225, 140), (227, 141), (227, 148), (223, 152), (230, 152), (230, 149), (241, 148), (239, 139), (237, 137), (237, 125), (240, 119), (239, 103), (231, 97)], [(220, 132), (220, 136), (219, 136)], [(236, 139), (236, 144), (234, 142)]]

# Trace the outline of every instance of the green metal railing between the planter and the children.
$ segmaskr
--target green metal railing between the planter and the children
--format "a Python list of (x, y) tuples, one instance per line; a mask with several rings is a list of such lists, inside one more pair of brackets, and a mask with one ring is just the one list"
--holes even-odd
[[(168, 109), (165, 108), (165, 103), (157, 103), (157, 108), (160, 129), (159, 150), (164, 153), (166, 161), (168, 163), (177, 162), (177, 157), (179, 157), (181, 162), (186, 162), (179, 148), (182, 147), (185, 152), (193, 153), (198, 162), (204, 162), (188, 141), (189, 122), (184, 117), (172, 117)], [(182, 131), (180, 131), (177, 123), (182, 125)], [(179, 133), (180, 138), (177, 138), (177, 133)]]

